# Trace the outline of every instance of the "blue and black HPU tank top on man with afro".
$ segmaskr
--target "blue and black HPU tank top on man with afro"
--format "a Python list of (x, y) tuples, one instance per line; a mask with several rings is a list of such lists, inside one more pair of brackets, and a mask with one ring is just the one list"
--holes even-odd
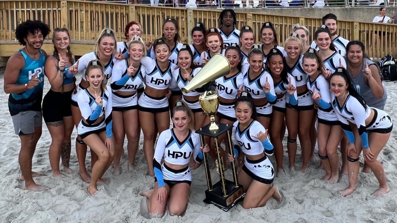
[(25, 85), (29, 80), (37, 73), (37, 78), (39, 79), (39, 85), (33, 87), (32, 89), (27, 89), (19, 94), (10, 94), (8, 98), (8, 109), (10, 114), (16, 115), (19, 112), (25, 111), (41, 111), (41, 101), (43, 98), (43, 87), (44, 87), (44, 62), (46, 58), (41, 50), (40, 58), (33, 60), (22, 51), (18, 50), (25, 59), (25, 66), (19, 71), (18, 79), (15, 84)]

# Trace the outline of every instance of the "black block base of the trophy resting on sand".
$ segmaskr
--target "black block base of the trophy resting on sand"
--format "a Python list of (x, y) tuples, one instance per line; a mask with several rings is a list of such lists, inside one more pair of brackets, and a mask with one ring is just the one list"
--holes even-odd
[(224, 211), (230, 210), (244, 198), (245, 193), (243, 186), (239, 185), (235, 187), (235, 183), (232, 181), (225, 180), (225, 186), (227, 192), (226, 196), (223, 196), (222, 185), (221, 182), (218, 181), (218, 183), (212, 186), (212, 190), (207, 189), (205, 191), (205, 199), (203, 201), (207, 204), (214, 204)]

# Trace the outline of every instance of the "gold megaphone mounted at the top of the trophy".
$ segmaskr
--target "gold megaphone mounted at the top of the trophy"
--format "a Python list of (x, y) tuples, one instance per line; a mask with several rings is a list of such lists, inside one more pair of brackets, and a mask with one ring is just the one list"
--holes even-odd
[(210, 81), (216, 80), (230, 73), (230, 63), (222, 54), (214, 54), (212, 58), (198, 71), (197, 75), (193, 77), (189, 83), (182, 88), (183, 92), (187, 93), (200, 86), (205, 85)]

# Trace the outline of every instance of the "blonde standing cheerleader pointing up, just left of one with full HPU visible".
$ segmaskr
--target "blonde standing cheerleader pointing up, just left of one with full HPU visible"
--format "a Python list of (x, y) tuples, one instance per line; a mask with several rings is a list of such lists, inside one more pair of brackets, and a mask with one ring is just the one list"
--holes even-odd
[(120, 174), (120, 158), (124, 152), (124, 136), (127, 135), (128, 166), (132, 170), (138, 150), (138, 89), (143, 86), (146, 69), (141, 58), (146, 56), (145, 44), (141, 37), (132, 37), (127, 52), (127, 60), (118, 60), (112, 70), (113, 92), (113, 133), (114, 133), (114, 173)]

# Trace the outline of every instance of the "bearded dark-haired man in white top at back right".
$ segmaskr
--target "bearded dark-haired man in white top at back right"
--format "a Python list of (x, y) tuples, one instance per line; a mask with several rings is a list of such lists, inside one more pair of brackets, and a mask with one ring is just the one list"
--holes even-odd
[[(323, 25), (326, 25), (331, 33), (332, 43), (335, 46), (336, 52), (345, 56), (346, 54), (346, 46), (349, 43), (349, 40), (338, 36), (338, 19), (336, 15), (329, 13), (322, 17)], [(313, 41), (310, 45), (310, 48), (318, 50), (317, 44)]]

